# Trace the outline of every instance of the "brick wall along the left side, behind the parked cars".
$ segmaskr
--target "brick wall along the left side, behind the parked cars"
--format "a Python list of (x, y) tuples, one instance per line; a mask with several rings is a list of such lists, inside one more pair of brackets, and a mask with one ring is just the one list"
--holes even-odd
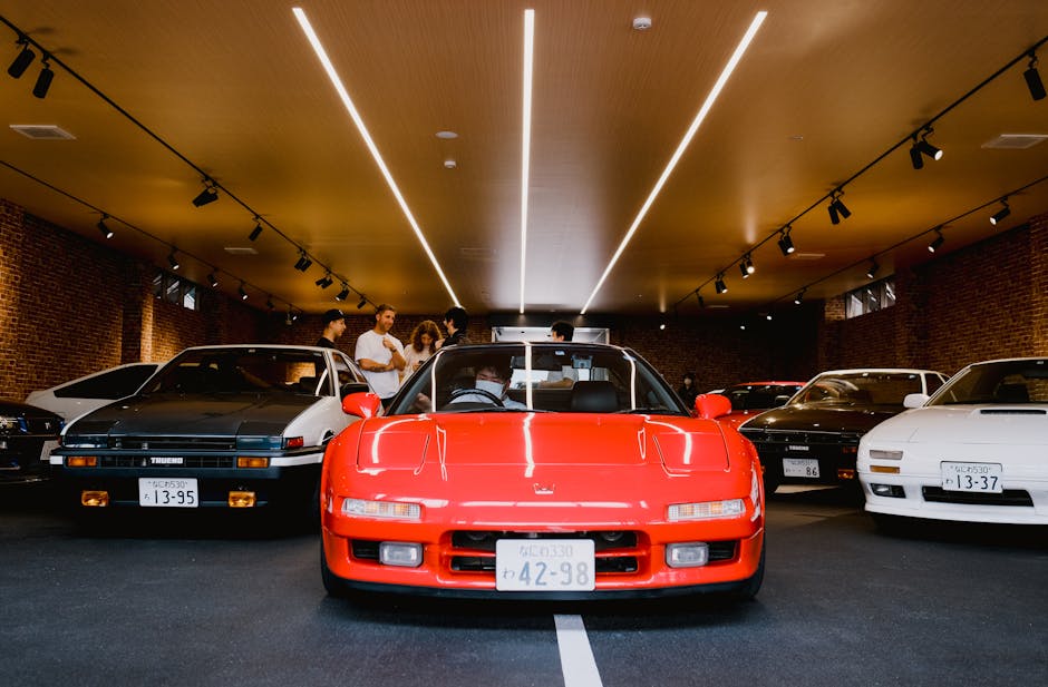
[(200, 312), (154, 298), (155, 274), (0, 199), (0, 395), (22, 400), (191, 345), (260, 341), (256, 311), (207, 288)]

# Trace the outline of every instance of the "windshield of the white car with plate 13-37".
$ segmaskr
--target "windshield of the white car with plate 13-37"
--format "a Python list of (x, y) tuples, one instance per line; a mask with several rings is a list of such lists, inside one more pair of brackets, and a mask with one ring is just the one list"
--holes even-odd
[(1048, 403), (1048, 359), (980, 363), (952, 377), (929, 405)]

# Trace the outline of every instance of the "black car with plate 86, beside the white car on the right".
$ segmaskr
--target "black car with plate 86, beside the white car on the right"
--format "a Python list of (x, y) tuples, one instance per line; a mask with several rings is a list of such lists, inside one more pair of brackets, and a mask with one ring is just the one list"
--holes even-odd
[(739, 432), (757, 446), (767, 493), (782, 483), (854, 484), (862, 435), (904, 411), (906, 394), (931, 395), (945, 381), (931, 370), (824, 372)]

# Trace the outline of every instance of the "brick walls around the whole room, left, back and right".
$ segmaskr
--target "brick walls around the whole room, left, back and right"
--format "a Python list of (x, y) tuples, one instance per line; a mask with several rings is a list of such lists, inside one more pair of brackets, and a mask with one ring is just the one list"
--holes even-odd
[[(23, 399), (106, 366), (163, 361), (186, 346), (274, 342), (311, 345), (320, 315), (288, 325), (287, 313), (259, 312), (208, 288), (201, 311), (153, 297), (156, 267), (144, 265), (0, 199), (0, 395)], [(66, 275), (76, 274), (75, 283)], [(90, 289), (81, 284), (93, 284)], [(844, 318), (843, 297), (805, 302), (772, 322), (702, 311), (690, 316), (604, 317), (611, 341), (630, 346), (677, 386), (695, 372), (698, 387), (764, 379), (805, 381), (822, 370), (931, 367), (952, 373), (987, 357), (1048, 355), (1048, 215), (979, 245), (902, 268), (896, 305)], [(353, 304), (355, 305), (355, 304)], [(395, 304), (396, 305), (396, 304)], [(350, 306), (338, 342), (350, 355), (373, 311)], [(398, 313), (402, 342), (423, 320)], [(468, 334), (491, 341), (492, 318), (474, 316)], [(661, 324), (666, 328), (660, 328)]]

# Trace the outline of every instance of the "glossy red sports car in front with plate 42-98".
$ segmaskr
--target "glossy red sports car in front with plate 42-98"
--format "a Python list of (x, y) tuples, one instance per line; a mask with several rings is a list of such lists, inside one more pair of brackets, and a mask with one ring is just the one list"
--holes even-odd
[[(570, 383), (565, 383), (569, 380)], [(696, 413), (629, 349), (440, 350), (328, 445), (324, 587), (518, 599), (757, 593), (764, 488), (753, 444)]]

